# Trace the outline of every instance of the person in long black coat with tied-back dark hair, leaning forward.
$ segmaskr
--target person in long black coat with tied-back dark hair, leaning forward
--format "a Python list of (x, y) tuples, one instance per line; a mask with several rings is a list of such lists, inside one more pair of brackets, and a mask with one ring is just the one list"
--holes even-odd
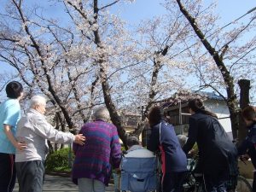
[(199, 167), (207, 192), (225, 191), (230, 166), (236, 161), (236, 146), (218, 122), (217, 115), (207, 111), (200, 99), (189, 101), (189, 113), (189, 134), (183, 151), (188, 154), (197, 143)]

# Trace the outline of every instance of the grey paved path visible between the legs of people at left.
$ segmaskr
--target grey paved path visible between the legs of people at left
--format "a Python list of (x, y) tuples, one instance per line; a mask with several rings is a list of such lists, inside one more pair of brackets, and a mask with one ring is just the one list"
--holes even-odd
[[(14, 192), (19, 191), (19, 184), (15, 184)], [(71, 182), (70, 177), (60, 177), (60, 176), (50, 176), (45, 175), (44, 180), (44, 189), (43, 191), (52, 191), (52, 192), (78, 192), (79, 189), (77, 185)], [(113, 192), (113, 184), (109, 184), (106, 192)]]

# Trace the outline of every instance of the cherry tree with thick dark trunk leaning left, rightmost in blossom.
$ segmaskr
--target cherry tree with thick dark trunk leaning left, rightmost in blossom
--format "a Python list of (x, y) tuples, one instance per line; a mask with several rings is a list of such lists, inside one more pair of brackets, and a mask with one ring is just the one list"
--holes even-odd
[[(216, 25), (205, 25), (199, 18), (195, 17), (196, 13), (190, 12), (187, 6), (183, 5), (180, 0), (176, 2), (180, 11), (189, 21), (189, 25), (194, 30), (197, 38), (200, 39), (201, 44), (207, 49), (207, 53), (201, 56), (196, 54), (197, 59), (195, 59), (194, 54), (201, 51), (198, 51), (198, 49), (190, 50), (190, 56), (193, 58), (199, 72), (201, 86), (211, 87), (220, 96), (223, 96), (230, 110), (233, 137), (236, 138), (239, 128), (236, 83), (238, 79), (243, 79), (244, 77), (253, 79), (253, 76), (255, 76), (255, 67), (250, 67), (249, 64), (255, 61), (256, 37), (249, 38), (243, 44), (238, 42), (243, 35), (247, 35), (248, 32), (255, 30), (255, 14), (246, 24), (235, 26), (227, 32), (223, 28), (216, 28)], [(211, 32), (212, 34), (209, 35)], [(211, 57), (209, 58), (208, 55), (211, 55)], [(239, 61), (244, 62), (244, 64), (239, 63)], [(207, 63), (210, 65), (207, 65)], [(222, 94), (221, 90), (223, 89), (226, 90), (226, 96)]]

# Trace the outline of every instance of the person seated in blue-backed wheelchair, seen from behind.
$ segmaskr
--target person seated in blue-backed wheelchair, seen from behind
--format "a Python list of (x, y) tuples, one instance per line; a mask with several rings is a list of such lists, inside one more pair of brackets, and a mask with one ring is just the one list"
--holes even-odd
[(157, 158), (153, 152), (140, 146), (137, 137), (127, 138), (128, 150), (121, 169), (121, 190), (131, 192), (153, 191), (158, 186)]

